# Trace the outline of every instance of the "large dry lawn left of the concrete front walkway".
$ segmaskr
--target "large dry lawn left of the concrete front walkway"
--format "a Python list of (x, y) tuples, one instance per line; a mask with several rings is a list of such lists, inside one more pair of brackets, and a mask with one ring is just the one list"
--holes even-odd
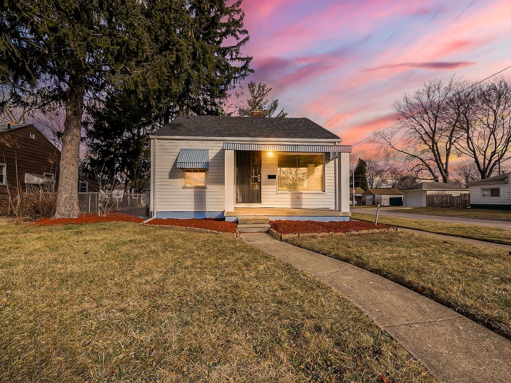
[(1, 230), (2, 382), (436, 381), (329, 286), (239, 239)]

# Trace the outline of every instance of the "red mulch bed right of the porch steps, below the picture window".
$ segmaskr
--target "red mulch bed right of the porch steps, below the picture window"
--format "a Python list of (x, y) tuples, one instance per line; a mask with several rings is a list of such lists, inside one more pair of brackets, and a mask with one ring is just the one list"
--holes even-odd
[(389, 225), (375, 225), (370, 222), (343, 221), (270, 221), (270, 226), (279, 234), (306, 233), (348, 233), (350, 231), (390, 228)]

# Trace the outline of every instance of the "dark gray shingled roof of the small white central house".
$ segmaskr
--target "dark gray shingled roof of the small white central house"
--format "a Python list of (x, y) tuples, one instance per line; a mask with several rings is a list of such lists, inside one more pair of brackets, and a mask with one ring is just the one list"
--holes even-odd
[(152, 136), (340, 139), (308, 118), (182, 115)]

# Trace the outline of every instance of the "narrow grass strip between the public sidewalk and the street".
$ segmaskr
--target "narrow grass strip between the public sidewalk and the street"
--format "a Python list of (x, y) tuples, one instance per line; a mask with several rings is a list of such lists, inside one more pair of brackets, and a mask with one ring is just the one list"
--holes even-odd
[[(375, 216), (352, 212), (351, 219), (375, 222)], [(511, 245), (511, 230), (490, 226), (475, 226), (467, 224), (455, 224), (449, 222), (437, 222), (429, 220), (412, 220), (397, 217), (378, 217), (378, 224), (385, 224), (407, 229), (427, 231), (430, 233), (453, 235), (473, 240), (494, 242), (497, 244)]]

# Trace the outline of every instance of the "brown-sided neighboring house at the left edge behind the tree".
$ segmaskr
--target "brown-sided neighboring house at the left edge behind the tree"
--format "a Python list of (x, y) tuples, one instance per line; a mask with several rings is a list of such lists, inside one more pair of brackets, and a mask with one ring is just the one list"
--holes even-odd
[(60, 151), (32, 124), (0, 124), (0, 199), (8, 190), (57, 190)]

